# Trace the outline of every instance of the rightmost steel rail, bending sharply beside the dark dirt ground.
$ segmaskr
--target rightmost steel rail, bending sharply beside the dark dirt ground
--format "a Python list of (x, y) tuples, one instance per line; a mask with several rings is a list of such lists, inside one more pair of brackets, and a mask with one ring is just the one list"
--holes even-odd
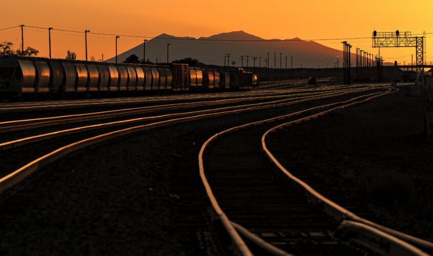
[[(372, 228), (375, 228), (377, 230), (381, 230), (383, 232), (391, 234), (392, 236), (394, 236), (395, 238), (398, 238), (401, 241), (407, 241), (407, 242), (409, 242), (411, 244), (415, 244), (417, 246), (421, 246), (423, 248), (427, 248), (429, 250), (432, 250), (433, 249), (433, 243), (431, 243), (431, 242), (428, 242), (428, 241), (425, 241), (425, 240), (422, 240), (422, 239), (410, 236), (409, 234), (405, 234), (403, 232), (400, 232), (400, 231), (397, 231), (397, 230), (394, 230), (394, 229), (391, 229), (391, 228), (387, 228), (387, 227), (384, 227), (384, 226), (379, 225), (377, 223), (374, 223), (374, 222), (368, 221), (366, 219), (363, 219), (363, 218), (357, 216), (356, 214), (354, 214), (352, 211), (349, 211), (349, 210), (345, 209), (344, 207), (336, 204), (332, 200), (329, 200), (328, 198), (322, 196), (315, 189), (313, 189), (310, 185), (306, 184), (305, 182), (303, 182), (302, 180), (298, 179), (296, 176), (294, 176), (293, 174), (291, 174), (290, 172), (288, 172), (288, 170), (284, 166), (281, 165), (281, 163), (274, 157), (274, 155), (270, 152), (270, 150), (266, 146), (266, 137), (270, 133), (275, 132), (276, 130), (278, 130), (278, 129), (282, 128), (282, 127), (290, 126), (290, 125), (293, 125), (295, 123), (300, 123), (302, 121), (307, 121), (307, 120), (310, 120), (312, 118), (317, 118), (317, 117), (325, 115), (325, 114), (327, 114), (327, 113), (329, 113), (331, 111), (342, 109), (342, 108), (346, 108), (348, 106), (351, 106), (351, 105), (354, 105), (354, 104), (357, 104), (357, 103), (361, 103), (361, 102), (365, 102), (365, 101), (371, 100), (373, 98), (376, 98), (376, 97), (379, 97), (379, 96), (383, 96), (383, 95), (386, 95), (386, 94), (390, 94), (390, 93), (394, 93), (394, 92), (387, 92), (387, 93), (384, 93), (382, 95), (373, 96), (371, 98), (365, 99), (365, 100), (360, 101), (360, 102), (354, 102), (354, 103), (346, 104), (346, 105), (343, 105), (343, 106), (338, 106), (336, 108), (333, 108), (333, 109), (330, 109), (330, 110), (326, 110), (326, 111), (323, 111), (321, 113), (318, 113), (318, 114), (315, 114), (315, 115), (312, 115), (312, 116), (304, 117), (304, 118), (301, 118), (301, 119), (298, 119), (298, 120), (295, 120), (295, 121), (291, 121), (291, 122), (287, 122), (287, 123), (283, 123), (283, 124), (280, 124), (278, 126), (275, 126), (275, 127), (273, 127), (272, 129), (266, 131), (266, 133), (263, 134), (262, 139), (261, 139), (262, 148), (263, 148), (263, 151), (266, 153), (266, 156), (271, 160), (271, 162), (273, 162), (278, 167), (278, 169), (281, 170), (281, 172), (283, 174), (285, 174), (288, 178), (290, 178), (291, 180), (293, 180), (294, 182), (296, 182), (298, 185), (300, 185), (304, 189), (304, 191), (307, 193), (307, 195), (310, 198), (310, 200), (312, 200), (313, 202), (324, 203), (324, 210), (329, 215), (332, 215), (334, 218), (340, 219), (340, 220), (348, 218), (348, 219), (356, 221), (358, 223), (362, 223), (362, 224), (368, 225), (368, 226), (370, 226)], [(405, 247), (407, 249), (409, 249), (409, 247), (407, 247), (407, 246), (405, 246)], [(420, 253), (419, 255), (426, 255), (425, 252), (419, 250), (416, 247), (410, 248), (410, 250), (413, 251), (416, 254)]]

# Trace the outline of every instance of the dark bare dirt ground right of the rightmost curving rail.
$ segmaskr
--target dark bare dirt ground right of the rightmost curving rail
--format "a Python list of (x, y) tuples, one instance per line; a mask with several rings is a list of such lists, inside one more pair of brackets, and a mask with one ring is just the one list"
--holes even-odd
[(355, 203), (355, 213), (433, 240), (433, 139), (424, 135), (423, 119), (428, 99), (405, 93), (289, 126), (273, 133), (269, 145), (277, 159), (300, 166), (295, 175), (321, 179), (319, 192)]

